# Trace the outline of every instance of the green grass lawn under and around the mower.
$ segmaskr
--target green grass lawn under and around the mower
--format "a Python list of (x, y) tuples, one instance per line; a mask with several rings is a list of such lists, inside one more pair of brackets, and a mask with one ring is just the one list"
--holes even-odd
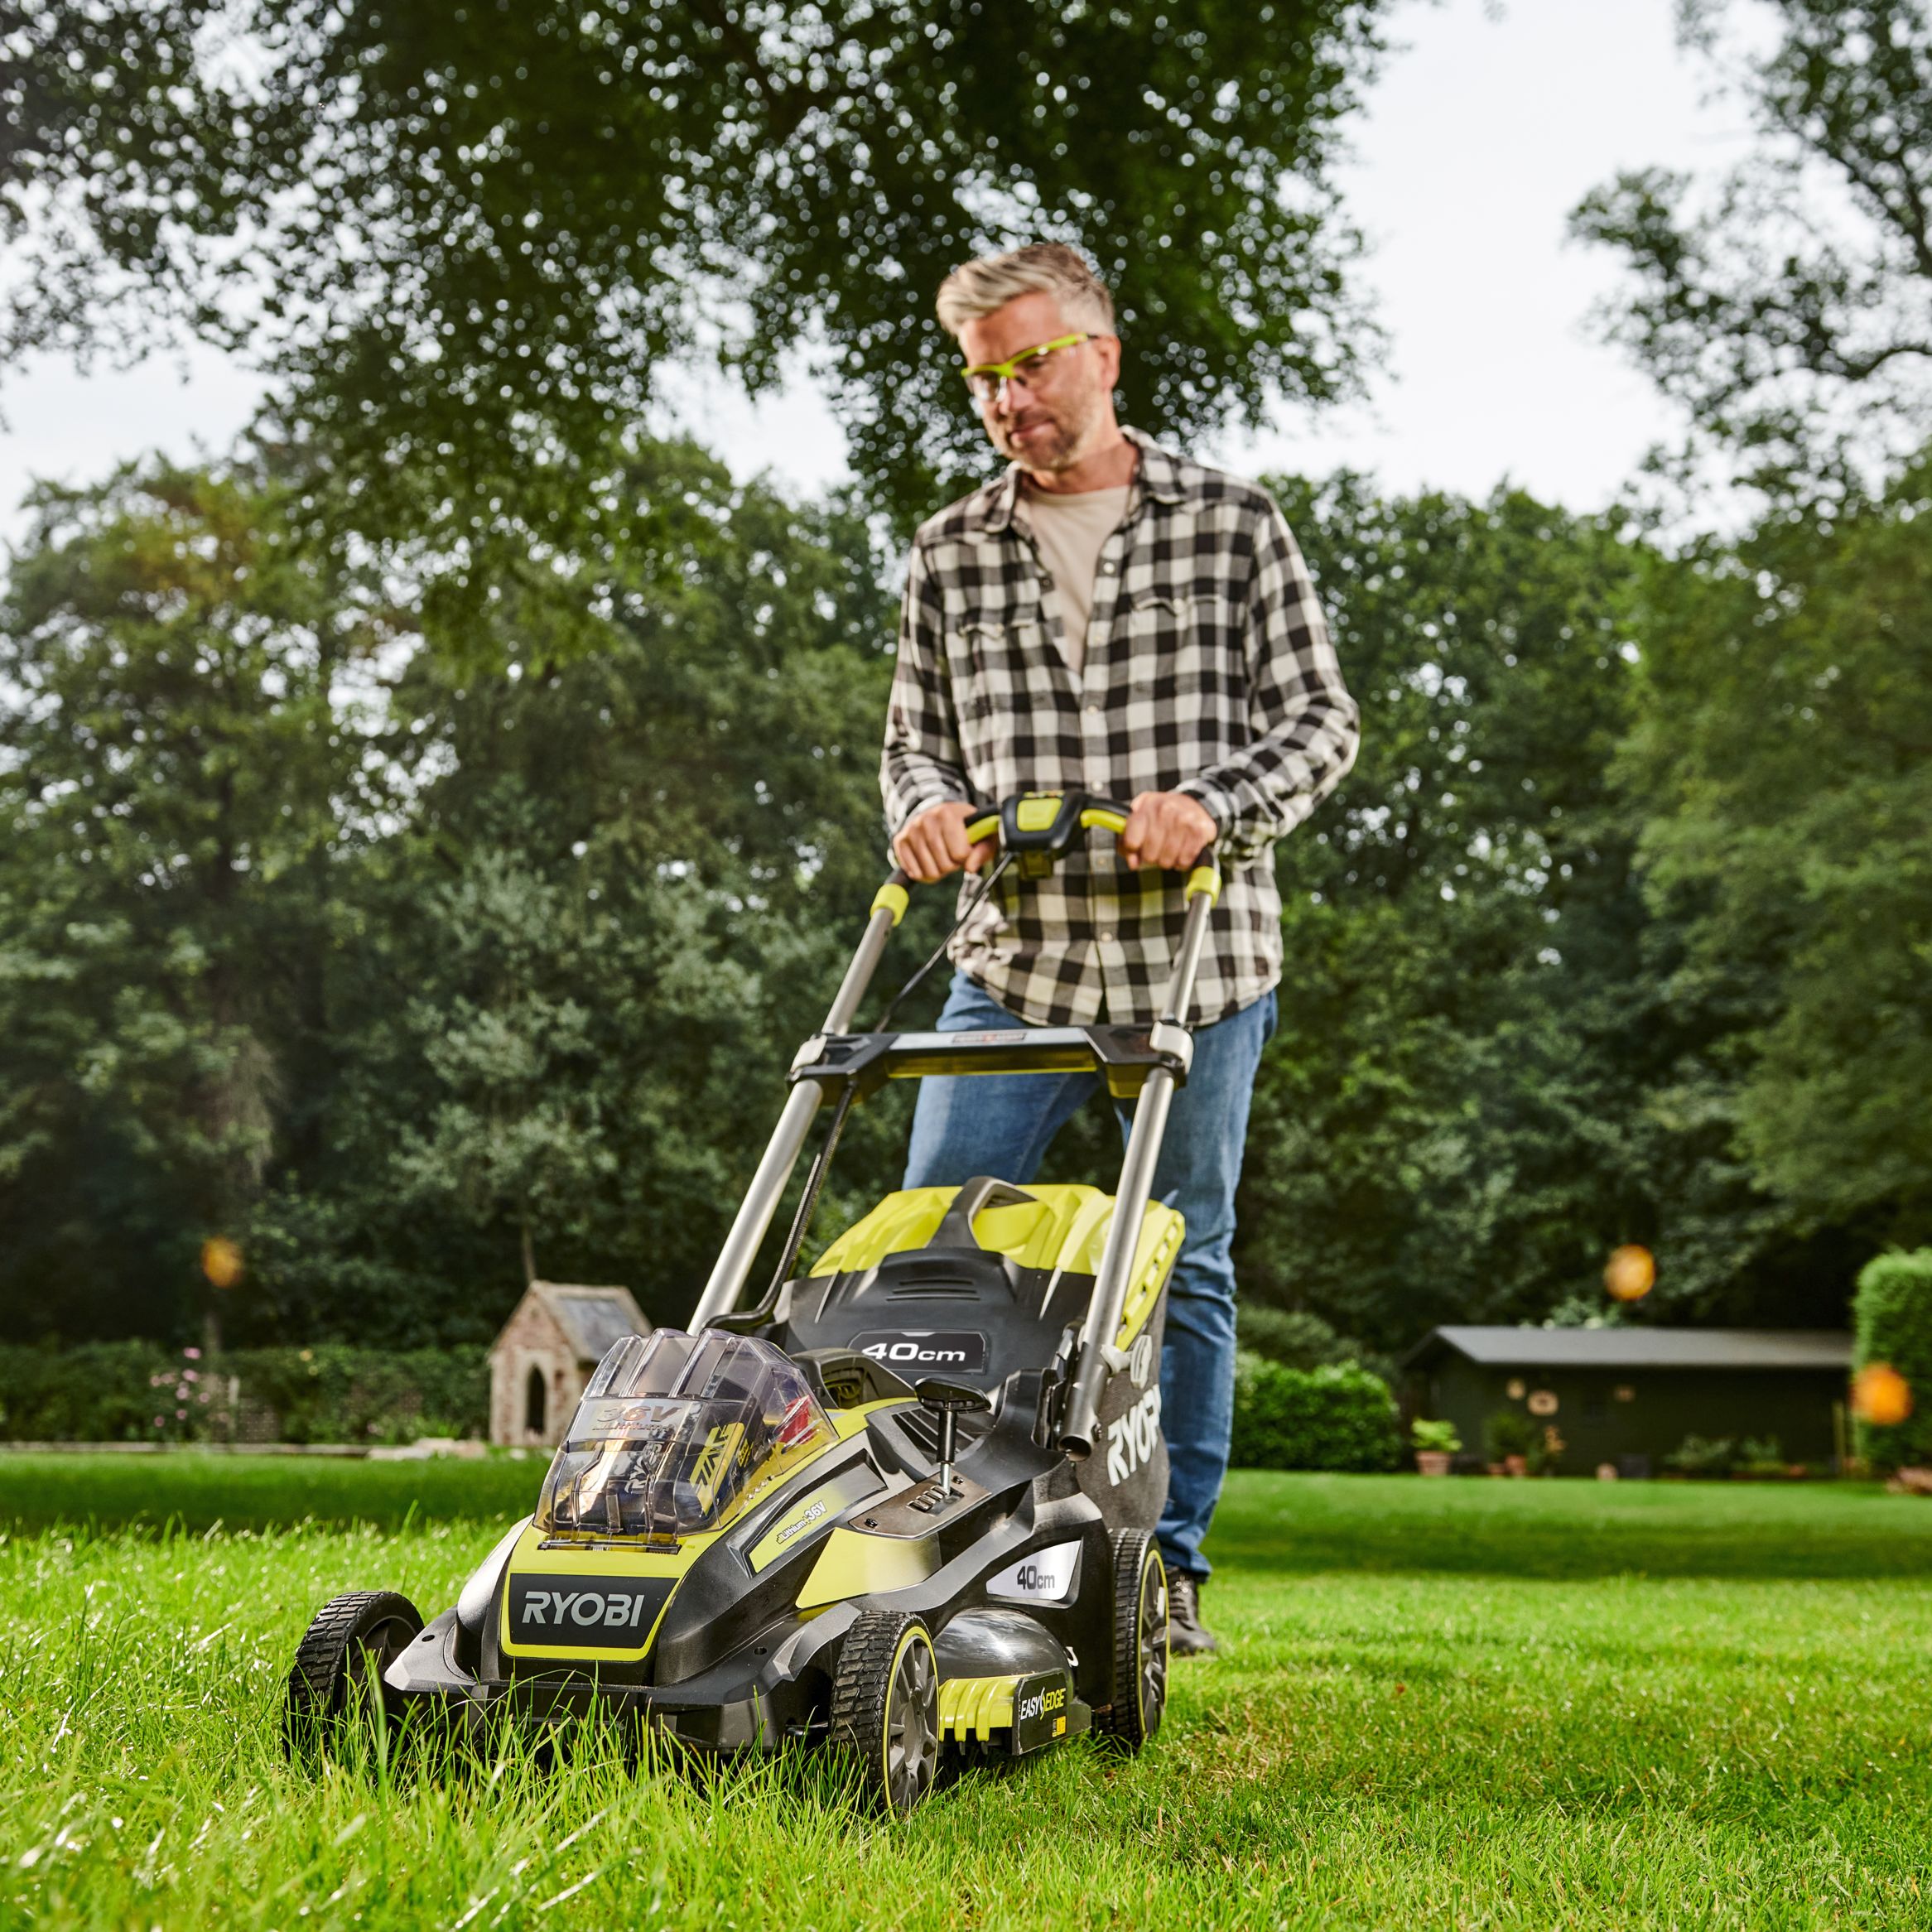
[[(0, 1459), (0, 1926), (1932, 1922), (1911, 1497), (1236, 1476), (1225, 1654), (1177, 1667), (1155, 1745), (887, 1828), (811, 1776), (599, 1754), (292, 1776), (274, 1710), (315, 1604), (440, 1607), (539, 1466), (102, 1463)], [(95, 1526), (46, 1528), (56, 1497)], [(276, 1507), (309, 1520), (205, 1528)]]

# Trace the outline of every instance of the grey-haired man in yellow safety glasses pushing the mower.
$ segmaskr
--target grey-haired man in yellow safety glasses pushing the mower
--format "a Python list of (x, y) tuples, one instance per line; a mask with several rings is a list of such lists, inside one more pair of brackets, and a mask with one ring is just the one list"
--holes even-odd
[[(893, 850), (914, 879), (943, 879), (987, 860), (966, 840), (970, 800), (1082, 790), (1134, 808), (1117, 850), (1003, 881), (952, 943), (939, 1026), (1153, 1020), (1182, 927), (1177, 867), (1213, 842), (1227, 877), (1153, 1180), (1186, 1217), (1161, 1358), (1169, 1631), (1180, 1654), (1213, 1650), (1202, 1538), (1235, 1414), (1235, 1184), (1281, 980), (1271, 850), (1354, 761), (1356, 707), (1265, 491), (1117, 421), (1113, 299), (1080, 255), (1037, 243), (966, 263), (939, 321), (1010, 468), (912, 545), (881, 769)], [(1095, 1088), (922, 1082), (906, 1186), (1030, 1180)]]

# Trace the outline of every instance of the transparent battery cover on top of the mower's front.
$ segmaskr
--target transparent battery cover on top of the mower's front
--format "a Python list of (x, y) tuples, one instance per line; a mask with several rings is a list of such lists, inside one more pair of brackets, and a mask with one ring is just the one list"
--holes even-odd
[(626, 1335), (543, 1478), (553, 1536), (692, 1536), (835, 1439), (806, 1378), (750, 1335)]

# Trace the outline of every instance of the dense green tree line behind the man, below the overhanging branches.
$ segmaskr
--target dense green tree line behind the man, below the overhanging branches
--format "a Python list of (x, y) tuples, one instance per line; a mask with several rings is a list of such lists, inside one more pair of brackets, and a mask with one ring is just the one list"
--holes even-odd
[[(46, 498), (0, 641), (0, 1333), (477, 1345), (531, 1269), (688, 1312), (879, 875), (893, 599), (850, 504), (628, 462), (597, 649), (506, 599), (502, 676), (269, 468)], [(1621, 1240), (1646, 1318), (1839, 1320), (1928, 1217), (1924, 493), (1663, 558), (1520, 495), (1283, 489), (1366, 740), (1279, 854), (1242, 1345), (1588, 1320)], [(815, 1238), (908, 1101), (854, 1115)], [(1117, 1159), (1103, 1109), (1053, 1153)]]

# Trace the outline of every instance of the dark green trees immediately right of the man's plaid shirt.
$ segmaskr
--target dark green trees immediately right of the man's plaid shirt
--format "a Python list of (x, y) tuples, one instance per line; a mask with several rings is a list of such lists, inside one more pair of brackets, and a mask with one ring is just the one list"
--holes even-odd
[(1679, 1171), (1646, 1113), (1660, 989), (1609, 782), (1642, 551), (1520, 493), (1281, 491), (1362, 753), (1277, 850), (1244, 1283), (1389, 1350), (1602, 1300), (1604, 1256), (1654, 1240)]

